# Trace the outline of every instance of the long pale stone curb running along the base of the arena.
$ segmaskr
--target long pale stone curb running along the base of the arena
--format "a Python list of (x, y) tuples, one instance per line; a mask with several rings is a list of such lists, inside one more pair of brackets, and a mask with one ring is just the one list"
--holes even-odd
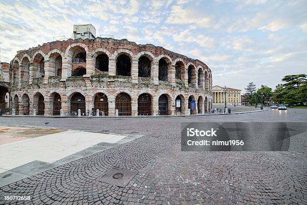
[(219, 115), (237, 115), (237, 114), (245, 114), (245, 113), (257, 113), (267, 111), (267, 109), (257, 110), (257, 111), (245, 111), (245, 112), (237, 112), (237, 113), (221, 113), (221, 114), (197, 114), (197, 115), (178, 115), (178, 116), (105, 116), (105, 117), (87, 117), (87, 116), (33, 116), (33, 115), (7, 115), (7, 116), (0, 116), (4, 118), (174, 118), (174, 117), (198, 117), (198, 116), (219, 116)]

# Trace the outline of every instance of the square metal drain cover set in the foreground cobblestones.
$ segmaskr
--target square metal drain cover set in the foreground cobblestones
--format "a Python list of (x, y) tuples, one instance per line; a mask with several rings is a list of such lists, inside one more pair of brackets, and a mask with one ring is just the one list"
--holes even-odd
[(137, 173), (138, 172), (135, 170), (112, 167), (103, 174), (102, 177), (98, 178), (98, 181), (119, 187), (126, 187), (129, 181), (134, 178)]

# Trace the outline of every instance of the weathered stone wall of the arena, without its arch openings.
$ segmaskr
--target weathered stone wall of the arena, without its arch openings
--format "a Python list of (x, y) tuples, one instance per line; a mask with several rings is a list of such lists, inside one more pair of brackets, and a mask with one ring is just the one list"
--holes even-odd
[[(86, 62), (74, 63), (73, 56), (76, 51), (86, 51)], [(108, 72), (98, 70), (96, 66), (96, 57), (100, 54), (108, 56)], [(116, 75), (116, 60), (120, 55), (126, 55), (131, 60), (131, 75)], [(38, 58), (37, 56), (40, 56)], [(62, 62), (56, 61), (61, 56)], [(138, 77), (138, 59), (142, 56), (147, 57), (150, 64), (150, 76)], [(44, 58), (44, 77), (37, 77), (39, 66), (36, 59)], [(45, 43), (42, 46), (19, 51), (12, 60), (12, 71), (10, 80), (23, 79), (24, 71), (27, 66), (22, 67), (22, 62), (30, 60), (28, 72), (30, 79), (28, 84), (14, 83), (10, 87), (11, 96), (13, 97), (13, 107), (25, 109), (28, 101), (24, 102), (26, 95), (29, 97), (30, 108), (29, 114), (33, 114), (33, 109), (37, 107), (38, 93), (44, 96), (45, 115), (53, 114), (53, 102), (55, 93), (61, 96), (61, 104), (64, 113), (68, 113), (71, 108), (71, 97), (74, 93), (79, 92), (85, 97), (86, 110), (94, 108), (94, 98), (97, 93), (104, 93), (108, 98), (109, 116), (115, 115), (115, 98), (125, 92), (131, 97), (131, 115), (137, 115), (138, 96), (142, 93), (148, 93), (151, 98), (152, 112), (151, 115), (159, 115), (159, 97), (167, 94), (169, 98), (169, 114), (175, 114), (175, 99), (178, 95), (182, 97), (182, 114), (188, 114), (188, 98), (192, 96), (196, 100), (197, 110), (202, 113), (211, 108), (209, 97), (212, 96), (212, 73), (208, 66), (200, 60), (194, 60), (184, 55), (168, 51), (162, 47), (151, 44), (137, 45), (127, 40), (115, 40), (96, 38), (94, 40), (67, 40)], [(163, 59), (167, 62), (167, 81), (159, 80), (159, 61)], [(176, 63), (182, 65), (181, 80), (176, 80)], [(57, 69), (62, 64), (61, 76), (57, 75)], [(28, 65), (28, 64), (27, 64)], [(71, 73), (78, 67), (86, 68), (86, 75), (72, 77)], [(141, 66), (143, 66), (141, 64)], [(146, 64), (148, 66), (148, 63)], [(192, 69), (191, 69), (192, 67)], [(56, 68), (56, 69), (55, 69)], [(188, 69), (192, 70), (191, 82), (188, 83)], [(23, 72), (21, 72), (23, 71)], [(163, 70), (162, 70), (163, 71)], [(204, 74), (198, 74), (204, 73)], [(15, 73), (15, 75), (14, 75)], [(207, 76), (207, 78), (205, 78)], [(198, 79), (198, 78), (202, 79)], [(21, 80), (19, 80), (21, 82)], [(13, 83), (11, 83), (13, 84)], [(26, 94), (26, 95), (25, 95)], [(199, 103), (198, 103), (199, 101)], [(18, 104), (18, 105), (16, 105)], [(25, 105), (27, 104), (27, 105)], [(205, 108), (205, 105), (207, 107)], [(24, 112), (19, 112), (23, 114)]]

